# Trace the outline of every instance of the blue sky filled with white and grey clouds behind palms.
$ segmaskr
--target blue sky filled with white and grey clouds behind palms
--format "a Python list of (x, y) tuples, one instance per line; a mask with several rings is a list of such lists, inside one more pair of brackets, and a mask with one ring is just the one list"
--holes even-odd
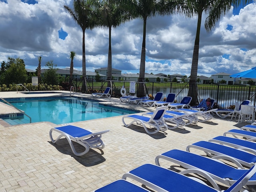
[[(64, 10), (72, 0), (0, 0), (0, 62), (22, 58), (36, 70), (52, 60), (58, 68), (82, 70), (82, 30)], [(205, 19), (205, 17), (204, 17)], [(256, 4), (231, 9), (207, 33), (200, 32), (198, 75), (235, 74), (256, 66)], [(190, 76), (197, 17), (157, 16), (147, 21), (146, 72)], [(112, 30), (112, 68), (139, 73), (143, 22), (140, 19)], [(86, 30), (86, 70), (107, 67), (108, 30)]]

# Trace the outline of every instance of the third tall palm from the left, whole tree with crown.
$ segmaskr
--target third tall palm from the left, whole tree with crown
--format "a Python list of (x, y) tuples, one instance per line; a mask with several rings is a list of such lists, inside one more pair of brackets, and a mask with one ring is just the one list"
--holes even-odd
[[(156, 16), (160, 11), (161, 0), (122, 0), (122, 6), (127, 10), (133, 18), (143, 19), (143, 38), (142, 50), (140, 57), (140, 76), (138, 82), (145, 81), (145, 62), (146, 62), (146, 22), (148, 18)], [(139, 83), (137, 96), (144, 96), (144, 84)]]

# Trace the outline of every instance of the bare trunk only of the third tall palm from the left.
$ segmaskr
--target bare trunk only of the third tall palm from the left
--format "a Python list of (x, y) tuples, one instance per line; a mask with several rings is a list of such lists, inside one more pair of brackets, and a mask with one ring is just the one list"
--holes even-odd
[[(143, 40), (140, 58), (140, 77), (138, 82), (145, 82), (145, 62), (146, 62), (146, 19), (143, 20)], [(138, 97), (145, 96), (144, 83), (139, 83), (138, 85)]]

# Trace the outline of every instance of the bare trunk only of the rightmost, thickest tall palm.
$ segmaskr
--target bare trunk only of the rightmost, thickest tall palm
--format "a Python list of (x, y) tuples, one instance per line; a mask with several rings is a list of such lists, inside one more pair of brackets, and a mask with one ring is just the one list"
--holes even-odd
[(192, 97), (191, 104), (190, 104), (192, 106), (198, 104), (198, 92), (197, 92), (196, 78), (197, 78), (197, 68), (198, 68), (201, 20), (202, 20), (202, 12), (198, 13), (196, 39), (195, 39), (195, 44), (194, 44), (194, 52), (193, 52), (192, 66), (191, 66), (191, 72), (190, 72), (190, 81), (189, 81), (189, 88), (188, 88), (188, 96)]

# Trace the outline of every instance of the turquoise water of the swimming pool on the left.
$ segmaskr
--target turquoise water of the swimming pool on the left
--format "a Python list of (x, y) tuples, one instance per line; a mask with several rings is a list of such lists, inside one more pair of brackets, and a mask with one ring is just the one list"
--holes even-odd
[[(81, 100), (73, 97), (24, 98), (23, 100), (7, 99), (7, 101), (20, 110), (23, 110), (32, 118), (32, 122), (47, 121), (54, 124), (64, 124), (138, 112), (104, 106), (94, 100)], [(26, 116), (24, 116), (24, 118), (28, 119)]]

